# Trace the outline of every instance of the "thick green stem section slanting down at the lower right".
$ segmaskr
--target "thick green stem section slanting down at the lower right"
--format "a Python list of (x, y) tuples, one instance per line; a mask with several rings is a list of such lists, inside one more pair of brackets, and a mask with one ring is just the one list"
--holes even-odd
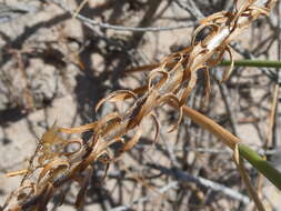
[(239, 143), (238, 149), (245, 160), (281, 190), (281, 173), (277, 169), (245, 144)]

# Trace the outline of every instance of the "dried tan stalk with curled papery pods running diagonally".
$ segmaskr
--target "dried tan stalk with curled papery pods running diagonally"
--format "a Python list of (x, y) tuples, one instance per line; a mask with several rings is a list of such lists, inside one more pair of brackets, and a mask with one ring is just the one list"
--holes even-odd
[[(222, 81), (227, 80), (233, 68), (233, 58), (229, 46), (241, 31), (258, 17), (268, 14), (275, 0), (243, 1), (240, 7), (235, 1), (233, 12), (218, 12), (200, 22), (195, 29), (191, 46), (177, 53), (164, 58), (160, 63), (152, 66), (154, 69), (149, 73), (147, 86), (136, 90), (118, 90), (112, 92), (98, 104), (124, 101), (133, 99), (133, 105), (124, 113), (109, 113), (100, 120), (72, 129), (52, 127), (47, 131), (38, 147), (37, 153), (31, 158), (30, 168), (24, 173), (20, 188), (11, 194), (4, 208), (7, 210), (46, 210), (47, 204), (54, 191), (68, 181), (77, 181), (81, 189), (77, 197), (77, 207), (83, 204), (83, 195), (92, 175), (92, 164), (102, 161), (110, 162), (130, 150), (140, 139), (142, 131), (140, 123), (144, 117), (151, 117), (155, 123), (155, 137), (158, 139), (160, 123), (153, 113), (153, 109), (164, 103), (172, 103), (179, 111), (178, 121), (170, 131), (177, 130), (181, 122), (183, 105), (191, 91), (197, 84), (197, 71), (204, 69), (207, 79), (207, 98), (210, 92), (209, 69), (218, 64), (224, 52), (231, 59), (230, 68), (224, 72)], [(197, 34), (204, 28), (210, 28), (209, 34), (197, 41)], [(123, 135), (136, 129), (137, 132), (130, 140)], [(64, 140), (60, 133), (82, 133), (92, 131), (92, 138), (87, 143), (82, 140)], [(120, 142), (120, 151), (112, 155), (109, 151), (111, 144)], [(70, 144), (79, 145), (77, 151), (66, 153)], [(227, 143), (229, 144), (229, 143)], [(234, 148), (229, 144), (230, 148)], [(106, 172), (107, 173), (107, 172)], [(12, 173), (11, 175), (14, 175)], [(14, 205), (16, 203), (16, 205)]]

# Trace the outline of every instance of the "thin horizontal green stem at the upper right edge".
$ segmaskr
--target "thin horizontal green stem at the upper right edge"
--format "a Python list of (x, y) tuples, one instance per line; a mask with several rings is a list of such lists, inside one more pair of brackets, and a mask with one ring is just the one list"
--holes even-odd
[[(222, 61), (219, 66), (230, 66), (231, 61)], [(255, 68), (281, 68), (281, 61), (269, 60), (235, 60), (235, 67), (255, 67)]]

